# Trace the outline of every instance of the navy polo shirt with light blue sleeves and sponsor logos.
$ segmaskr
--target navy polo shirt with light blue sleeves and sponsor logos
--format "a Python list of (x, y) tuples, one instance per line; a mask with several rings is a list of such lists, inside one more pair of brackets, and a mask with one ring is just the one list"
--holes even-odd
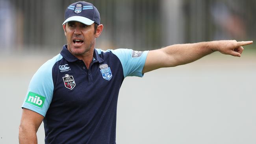
[(148, 51), (94, 49), (89, 69), (63, 46), (33, 75), (22, 108), (44, 116), (45, 144), (115, 144), (117, 98)]

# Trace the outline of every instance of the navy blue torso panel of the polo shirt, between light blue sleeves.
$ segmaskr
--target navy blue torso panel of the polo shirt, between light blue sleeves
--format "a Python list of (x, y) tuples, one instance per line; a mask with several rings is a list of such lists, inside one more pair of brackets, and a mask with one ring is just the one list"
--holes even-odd
[[(83, 61), (67, 53), (63, 48), (63, 59), (52, 68), (54, 94), (44, 119), (45, 142), (114, 144), (117, 96), (124, 79), (121, 62), (111, 52), (98, 55), (95, 51), (95, 60), (87, 70)], [(100, 65), (103, 64), (111, 69), (110, 80), (102, 78)], [(63, 65), (69, 68), (60, 70), (59, 66)], [(64, 85), (66, 74), (73, 77), (72, 89)]]

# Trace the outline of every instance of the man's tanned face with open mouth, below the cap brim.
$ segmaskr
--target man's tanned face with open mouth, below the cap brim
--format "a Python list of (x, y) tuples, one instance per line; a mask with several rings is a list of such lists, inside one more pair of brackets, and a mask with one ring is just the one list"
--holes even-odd
[(94, 23), (85, 25), (81, 22), (71, 21), (63, 26), (67, 38), (68, 50), (74, 55), (83, 55), (94, 49), (95, 30)]

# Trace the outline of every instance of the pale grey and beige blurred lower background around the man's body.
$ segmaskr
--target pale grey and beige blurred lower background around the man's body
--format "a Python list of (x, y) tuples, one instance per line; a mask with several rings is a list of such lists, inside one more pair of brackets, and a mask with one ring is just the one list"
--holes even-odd
[[(29, 81), (56, 54), (0, 57), (0, 144), (18, 143)], [(255, 55), (216, 52), (188, 65), (126, 78), (119, 94), (117, 144), (255, 144)], [(37, 135), (43, 144), (43, 127)]]

